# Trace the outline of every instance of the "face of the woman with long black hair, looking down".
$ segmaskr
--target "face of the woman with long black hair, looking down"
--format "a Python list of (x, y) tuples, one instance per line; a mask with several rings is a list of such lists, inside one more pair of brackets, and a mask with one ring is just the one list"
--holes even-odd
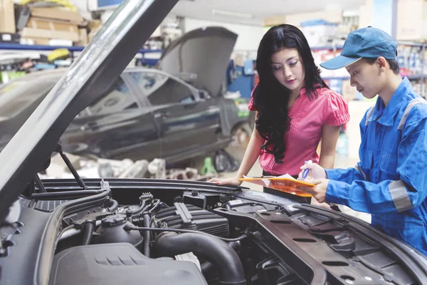
[(296, 48), (283, 48), (271, 56), (275, 78), (289, 90), (304, 87), (304, 64)]

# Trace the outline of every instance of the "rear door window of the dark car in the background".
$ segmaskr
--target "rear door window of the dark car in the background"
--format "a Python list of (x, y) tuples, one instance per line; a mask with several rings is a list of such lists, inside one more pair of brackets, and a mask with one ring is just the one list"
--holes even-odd
[(137, 100), (121, 77), (102, 95), (99, 100), (81, 111), (78, 117), (114, 113), (127, 109), (138, 108)]

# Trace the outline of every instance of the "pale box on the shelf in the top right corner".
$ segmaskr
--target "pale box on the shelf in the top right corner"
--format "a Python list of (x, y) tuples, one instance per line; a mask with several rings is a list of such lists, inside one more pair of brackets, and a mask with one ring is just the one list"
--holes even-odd
[(398, 41), (427, 40), (427, 1), (397, 1), (396, 39)]

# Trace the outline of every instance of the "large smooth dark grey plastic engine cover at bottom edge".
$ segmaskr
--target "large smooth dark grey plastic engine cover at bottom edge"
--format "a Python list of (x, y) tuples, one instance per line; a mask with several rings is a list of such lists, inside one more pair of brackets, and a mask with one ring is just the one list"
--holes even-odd
[(149, 259), (132, 244), (120, 243), (73, 247), (56, 254), (49, 284), (207, 285), (207, 282), (196, 264)]

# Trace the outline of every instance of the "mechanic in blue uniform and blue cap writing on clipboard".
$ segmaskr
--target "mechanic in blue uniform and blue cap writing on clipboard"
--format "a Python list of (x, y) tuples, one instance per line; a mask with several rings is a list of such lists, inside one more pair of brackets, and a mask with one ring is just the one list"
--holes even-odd
[(379, 97), (360, 122), (356, 167), (302, 165), (316, 187), (301, 190), (318, 202), (370, 213), (374, 227), (427, 255), (427, 101), (399, 75), (396, 48), (384, 31), (359, 28), (349, 33), (340, 56), (320, 64), (347, 68), (351, 85), (365, 98)]

